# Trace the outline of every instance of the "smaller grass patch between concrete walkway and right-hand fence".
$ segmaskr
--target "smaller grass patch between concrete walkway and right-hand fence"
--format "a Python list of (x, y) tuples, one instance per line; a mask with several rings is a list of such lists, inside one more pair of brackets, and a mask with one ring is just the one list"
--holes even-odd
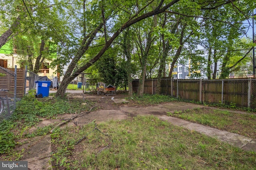
[(256, 139), (256, 115), (254, 114), (240, 114), (204, 107), (167, 112), (167, 115)]

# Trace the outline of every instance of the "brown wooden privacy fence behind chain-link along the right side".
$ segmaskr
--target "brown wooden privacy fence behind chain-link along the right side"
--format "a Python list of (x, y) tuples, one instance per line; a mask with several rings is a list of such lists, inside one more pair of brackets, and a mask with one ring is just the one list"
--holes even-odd
[[(145, 80), (144, 93), (156, 93), (156, 79)], [(133, 80), (132, 89), (138, 91), (139, 80)], [(256, 108), (256, 79), (181, 80), (161, 79), (161, 94), (196, 102), (234, 104)]]

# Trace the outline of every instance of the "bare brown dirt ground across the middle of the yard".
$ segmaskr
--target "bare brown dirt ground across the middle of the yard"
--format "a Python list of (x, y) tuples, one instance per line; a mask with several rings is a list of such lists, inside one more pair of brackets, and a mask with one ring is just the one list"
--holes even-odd
[[(158, 107), (138, 106), (135, 102), (125, 101), (127, 94), (116, 94), (109, 96), (98, 96), (97, 94), (68, 94), (68, 98), (80, 98), (81, 100), (91, 100), (96, 103), (96, 107), (100, 108), (88, 115), (84, 114), (74, 120), (78, 124), (89, 123), (92, 120), (97, 122), (126, 119), (136, 115), (166, 115), (167, 111), (193, 109), (195, 107), (203, 107), (196, 104), (185, 102), (172, 102), (160, 104)], [(177, 106), (178, 105), (178, 106)], [(60, 119), (67, 119), (70, 114), (60, 115)]]

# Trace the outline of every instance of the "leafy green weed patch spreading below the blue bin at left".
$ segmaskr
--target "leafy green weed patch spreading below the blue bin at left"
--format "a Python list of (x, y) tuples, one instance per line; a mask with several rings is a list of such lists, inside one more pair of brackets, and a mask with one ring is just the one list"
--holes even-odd
[[(17, 102), (12, 117), (0, 124), (0, 154), (15, 154), (10, 151), (17, 145), (16, 140), (22, 137), (36, 137), (45, 135), (52, 126), (37, 128), (32, 133), (29, 129), (42, 121), (42, 118), (54, 118), (65, 113), (80, 113), (88, 111), (93, 103), (81, 105), (81, 100), (67, 100), (52, 98), (51, 100), (37, 100), (34, 90)], [(11, 155), (10, 155), (11, 156)]]

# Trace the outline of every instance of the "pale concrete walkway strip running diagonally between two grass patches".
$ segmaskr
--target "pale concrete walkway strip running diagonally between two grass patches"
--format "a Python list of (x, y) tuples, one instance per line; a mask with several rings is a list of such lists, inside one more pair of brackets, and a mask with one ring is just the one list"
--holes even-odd
[(227, 142), (231, 145), (234, 145), (240, 148), (244, 147), (247, 143), (250, 143), (250, 141), (252, 141), (252, 139), (249, 137), (244, 137), (242, 135), (238, 135), (236, 133), (230, 133), (227, 131), (221, 131), (219, 129), (214, 129), (212, 127), (206, 127), (198, 123), (189, 123), (186, 125), (182, 125), (182, 127), (190, 130), (195, 130), (197, 132), (203, 133), (210, 137), (215, 137), (220, 141)]

